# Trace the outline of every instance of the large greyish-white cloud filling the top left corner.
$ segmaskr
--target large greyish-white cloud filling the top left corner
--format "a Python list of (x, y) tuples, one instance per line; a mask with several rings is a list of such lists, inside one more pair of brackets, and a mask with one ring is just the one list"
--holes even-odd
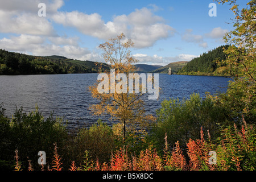
[[(47, 17), (38, 16), (38, 4), (46, 3)], [(64, 5), (63, 0), (0, 1), (0, 32), (31, 35), (56, 35), (49, 22), (51, 14)]]

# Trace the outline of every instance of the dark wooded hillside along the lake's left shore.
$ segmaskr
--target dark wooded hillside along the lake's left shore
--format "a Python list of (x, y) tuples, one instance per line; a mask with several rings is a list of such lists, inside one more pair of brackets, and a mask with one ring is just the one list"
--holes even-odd
[(67, 59), (63, 56), (30, 56), (0, 49), (0, 75), (97, 73), (105, 64)]

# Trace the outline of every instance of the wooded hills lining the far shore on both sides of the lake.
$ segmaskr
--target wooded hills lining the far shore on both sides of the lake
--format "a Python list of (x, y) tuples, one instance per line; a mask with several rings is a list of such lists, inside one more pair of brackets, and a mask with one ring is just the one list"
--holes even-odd
[[(160, 65), (135, 64), (139, 73), (172, 73), (179, 75), (213, 75), (224, 76), (225, 66), (218, 67), (216, 60), (225, 60), (226, 55), (220, 46), (203, 53), (191, 61), (178, 61), (164, 67)], [(106, 63), (68, 59), (64, 56), (31, 56), (0, 49), (0, 75), (31, 74), (66, 74), (66, 73), (98, 73), (109, 69)], [(229, 76), (229, 75), (226, 75)]]

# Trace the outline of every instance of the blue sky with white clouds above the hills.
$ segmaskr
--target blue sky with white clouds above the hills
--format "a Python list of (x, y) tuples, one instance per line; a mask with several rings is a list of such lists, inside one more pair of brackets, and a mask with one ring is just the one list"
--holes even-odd
[[(229, 5), (212, 0), (0, 0), (0, 48), (29, 55), (104, 61), (99, 44), (123, 32), (145, 64), (189, 61), (225, 44)], [(238, 2), (243, 2), (242, 0)], [(39, 16), (46, 5), (46, 16)], [(243, 2), (245, 3), (245, 2)]]

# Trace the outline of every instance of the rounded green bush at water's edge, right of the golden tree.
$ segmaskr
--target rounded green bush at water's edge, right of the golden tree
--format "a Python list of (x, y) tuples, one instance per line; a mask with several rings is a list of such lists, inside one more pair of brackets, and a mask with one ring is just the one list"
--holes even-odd
[(168, 143), (174, 146), (177, 140), (185, 148), (189, 138), (200, 138), (200, 127), (212, 138), (219, 134), (218, 125), (226, 121), (226, 111), (214, 105), (210, 98), (201, 98), (199, 94), (191, 94), (189, 99), (164, 100), (156, 111), (157, 125), (152, 131), (156, 143), (163, 146), (163, 138), (167, 133)]

